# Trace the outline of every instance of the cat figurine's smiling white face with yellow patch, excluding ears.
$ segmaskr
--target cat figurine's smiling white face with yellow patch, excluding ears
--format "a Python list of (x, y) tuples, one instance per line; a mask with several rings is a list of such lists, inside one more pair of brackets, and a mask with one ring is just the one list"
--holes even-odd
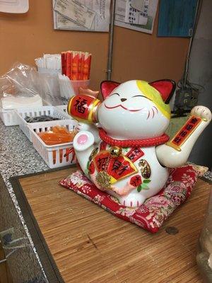
[(102, 102), (98, 121), (114, 139), (148, 139), (165, 132), (170, 108), (146, 81), (126, 81)]

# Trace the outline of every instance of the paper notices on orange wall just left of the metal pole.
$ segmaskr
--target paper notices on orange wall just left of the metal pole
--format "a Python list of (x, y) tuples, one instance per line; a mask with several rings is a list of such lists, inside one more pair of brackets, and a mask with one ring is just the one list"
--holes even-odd
[(108, 32), (110, 0), (53, 0), (54, 29)]

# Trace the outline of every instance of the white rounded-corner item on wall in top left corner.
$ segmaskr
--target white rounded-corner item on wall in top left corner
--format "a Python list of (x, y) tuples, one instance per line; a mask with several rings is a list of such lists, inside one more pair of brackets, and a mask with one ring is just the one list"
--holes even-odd
[(26, 13), (29, 9), (29, 0), (0, 0), (0, 12)]

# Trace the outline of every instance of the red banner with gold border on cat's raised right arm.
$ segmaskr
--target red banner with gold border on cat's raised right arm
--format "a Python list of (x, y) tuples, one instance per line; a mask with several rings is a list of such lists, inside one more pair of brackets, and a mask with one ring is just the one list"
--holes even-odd
[(173, 144), (174, 146), (180, 148), (180, 146), (184, 144), (184, 142), (188, 139), (192, 132), (194, 132), (194, 129), (196, 129), (196, 127), (198, 127), (200, 123), (200, 117), (190, 117), (186, 124), (182, 127), (182, 129), (180, 129), (179, 132), (175, 134), (175, 137), (173, 137), (168, 144), (170, 144), (170, 146), (171, 144)]

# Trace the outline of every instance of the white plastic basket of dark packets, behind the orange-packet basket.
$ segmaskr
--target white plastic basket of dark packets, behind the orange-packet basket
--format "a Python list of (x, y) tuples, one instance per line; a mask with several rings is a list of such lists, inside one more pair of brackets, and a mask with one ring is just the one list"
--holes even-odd
[[(45, 130), (43, 127), (44, 123), (48, 123), (49, 126), (55, 125), (54, 122), (59, 122), (59, 120), (68, 120), (69, 117), (65, 115), (65, 113), (54, 106), (41, 106), (37, 108), (23, 108), (16, 110), (17, 120), (20, 129), (24, 132), (24, 134), (28, 137), (30, 141), (32, 141), (30, 129), (34, 129), (35, 127), (40, 130)], [(34, 122), (28, 123), (25, 121), (25, 117), (37, 117), (40, 115), (54, 116), (58, 117), (59, 120), (49, 121), (49, 122)], [(71, 117), (70, 117), (71, 118)], [(52, 123), (53, 122), (53, 123)], [(58, 125), (58, 124), (57, 124)]]

